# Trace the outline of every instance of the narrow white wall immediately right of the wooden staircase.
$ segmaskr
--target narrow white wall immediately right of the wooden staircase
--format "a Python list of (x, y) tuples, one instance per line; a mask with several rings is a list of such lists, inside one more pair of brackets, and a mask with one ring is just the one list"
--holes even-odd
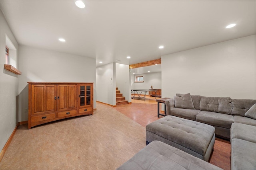
[(116, 63), (116, 87), (123, 94), (125, 100), (131, 102), (131, 90), (129, 84), (129, 65)]

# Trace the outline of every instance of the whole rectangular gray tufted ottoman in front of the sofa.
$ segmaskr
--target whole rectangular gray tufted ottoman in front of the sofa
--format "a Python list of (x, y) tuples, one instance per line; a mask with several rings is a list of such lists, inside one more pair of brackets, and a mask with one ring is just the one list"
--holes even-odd
[(204, 123), (166, 116), (146, 126), (146, 142), (162, 141), (208, 162), (215, 128)]

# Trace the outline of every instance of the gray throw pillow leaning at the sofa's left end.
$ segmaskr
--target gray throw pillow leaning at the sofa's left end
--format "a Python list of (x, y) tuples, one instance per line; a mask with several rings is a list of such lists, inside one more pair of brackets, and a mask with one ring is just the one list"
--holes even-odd
[(190, 93), (174, 96), (174, 102), (175, 108), (195, 109)]

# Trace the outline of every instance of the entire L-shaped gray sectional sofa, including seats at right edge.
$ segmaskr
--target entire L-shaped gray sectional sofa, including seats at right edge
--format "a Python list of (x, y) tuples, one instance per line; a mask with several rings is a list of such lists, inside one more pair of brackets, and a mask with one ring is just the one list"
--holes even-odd
[(256, 170), (256, 100), (176, 94), (166, 114), (206, 123), (230, 139), (231, 170)]

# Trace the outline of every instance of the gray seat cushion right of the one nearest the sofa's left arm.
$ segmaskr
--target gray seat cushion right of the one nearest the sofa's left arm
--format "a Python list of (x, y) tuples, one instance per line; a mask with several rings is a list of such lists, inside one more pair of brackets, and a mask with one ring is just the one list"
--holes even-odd
[(201, 111), (196, 115), (196, 121), (230, 129), (231, 124), (234, 123), (234, 116), (210, 111)]

